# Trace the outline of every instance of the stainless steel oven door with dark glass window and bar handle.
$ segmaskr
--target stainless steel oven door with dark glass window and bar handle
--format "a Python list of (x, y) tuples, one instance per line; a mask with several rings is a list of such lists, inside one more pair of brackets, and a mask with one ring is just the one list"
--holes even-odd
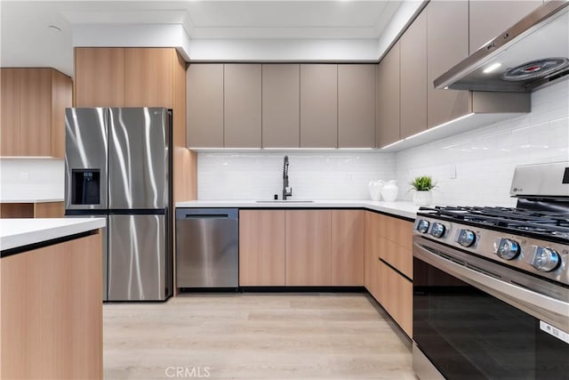
[[(542, 286), (548, 295), (536, 291)], [(568, 296), (565, 287), (415, 236), (413, 369), (432, 378), (421, 373), (429, 361), (448, 379), (568, 378)], [(415, 351), (424, 357), (415, 360)]]

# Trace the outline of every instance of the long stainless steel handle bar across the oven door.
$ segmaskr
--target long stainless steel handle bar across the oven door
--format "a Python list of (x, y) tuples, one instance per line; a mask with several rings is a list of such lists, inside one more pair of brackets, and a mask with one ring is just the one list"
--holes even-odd
[(480, 271), (467, 268), (460, 263), (437, 255), (435, 252), (452, 255), (452, 249), (433, 244), (429, 247), (427, 240), (413, 241), (413, 256), (425, 263), (445, 271), (457, 279), (477, 287), (486, 293), (501, 299), (505, 303), (523, 310), (537, 319), (541, 319), (564, 331), (569, 331), (569, 303), (541, 295), (525, 287), (519, 287), (509, 282), (495, 279)]

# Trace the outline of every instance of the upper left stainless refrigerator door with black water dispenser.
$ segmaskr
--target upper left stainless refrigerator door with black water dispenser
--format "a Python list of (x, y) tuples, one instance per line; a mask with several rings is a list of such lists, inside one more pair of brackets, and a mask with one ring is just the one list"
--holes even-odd
[(108, 109), (65, 110), (65, 208), (108, 208)]

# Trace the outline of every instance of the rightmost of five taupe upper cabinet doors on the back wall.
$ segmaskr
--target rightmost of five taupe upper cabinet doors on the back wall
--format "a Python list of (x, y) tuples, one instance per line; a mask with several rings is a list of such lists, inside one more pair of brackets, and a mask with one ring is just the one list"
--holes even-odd
[(338, 65), (338, 147), (375, 147), (375, 65)]

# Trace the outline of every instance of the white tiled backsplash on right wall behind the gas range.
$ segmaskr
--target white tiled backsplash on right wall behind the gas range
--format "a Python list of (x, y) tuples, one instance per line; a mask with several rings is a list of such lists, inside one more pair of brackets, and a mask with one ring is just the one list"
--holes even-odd
[(408, 182), (430, 174), (438, 183), (436, 204), (515, 206), (509, 198), (515, 166), (569, 160), (568, 148), (565, 81), (533, 93), (530, 114), (397, 152), (399, 198), (413, 198)]

